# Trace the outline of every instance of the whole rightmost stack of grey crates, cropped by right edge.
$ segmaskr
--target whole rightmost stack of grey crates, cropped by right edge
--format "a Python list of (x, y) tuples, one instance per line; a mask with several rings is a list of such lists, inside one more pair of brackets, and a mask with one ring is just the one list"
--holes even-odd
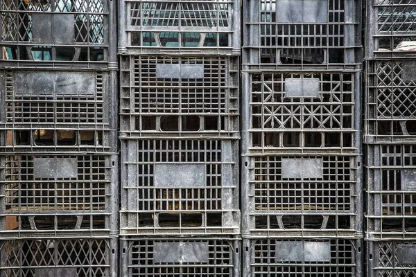
[(367, 276), (416, 274), (416, 3), (367, 1)]

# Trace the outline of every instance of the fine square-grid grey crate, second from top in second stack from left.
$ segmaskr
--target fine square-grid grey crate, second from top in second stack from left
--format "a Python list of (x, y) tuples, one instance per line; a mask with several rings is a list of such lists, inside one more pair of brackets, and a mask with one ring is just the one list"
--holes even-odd
[(122, 136), (239, 137), (235, 57), (121, 58)]

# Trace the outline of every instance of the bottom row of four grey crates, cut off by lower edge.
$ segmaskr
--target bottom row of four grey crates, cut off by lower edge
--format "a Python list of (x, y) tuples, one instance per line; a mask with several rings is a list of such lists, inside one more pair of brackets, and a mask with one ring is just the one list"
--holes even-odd
[[(241, 245), (242, 244), (242, 245)], [(0, 276), (414, 276), (415, 241), (5, 240)], [(363, 261), (367, 264), (364, 265)], [(119, 274), (118, 275), (118, 271)]]

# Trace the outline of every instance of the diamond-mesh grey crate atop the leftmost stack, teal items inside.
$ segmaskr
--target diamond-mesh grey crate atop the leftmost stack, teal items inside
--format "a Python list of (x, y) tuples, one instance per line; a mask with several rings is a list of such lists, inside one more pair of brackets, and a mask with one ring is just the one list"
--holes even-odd
[(115, 1), (0, 2), (1, 67), (117, 67)]

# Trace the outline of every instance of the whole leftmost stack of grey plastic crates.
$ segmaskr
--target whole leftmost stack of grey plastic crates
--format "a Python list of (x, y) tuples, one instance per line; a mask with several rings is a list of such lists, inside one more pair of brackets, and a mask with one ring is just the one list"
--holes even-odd
[(0, 276), (116, 276), (115, 3), (0, 3)]

